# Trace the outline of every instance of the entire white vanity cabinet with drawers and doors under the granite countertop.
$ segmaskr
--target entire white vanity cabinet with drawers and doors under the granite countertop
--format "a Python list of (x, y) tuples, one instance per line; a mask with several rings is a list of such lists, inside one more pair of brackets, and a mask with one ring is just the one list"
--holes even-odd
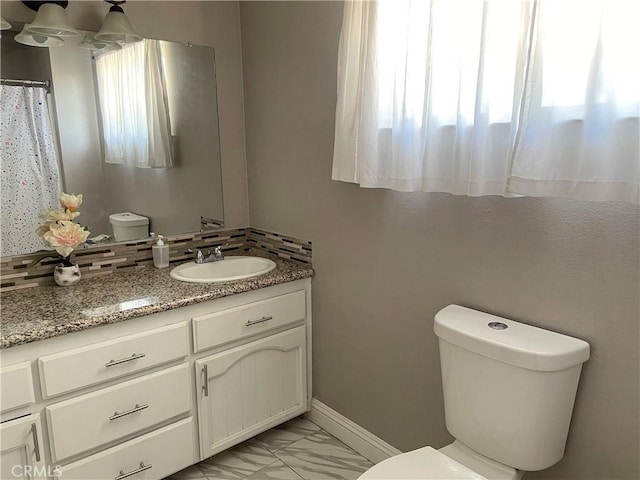
[(310, 299), (297, 280), (3, 350), (0, 478), (159, 479), (308, 411)]

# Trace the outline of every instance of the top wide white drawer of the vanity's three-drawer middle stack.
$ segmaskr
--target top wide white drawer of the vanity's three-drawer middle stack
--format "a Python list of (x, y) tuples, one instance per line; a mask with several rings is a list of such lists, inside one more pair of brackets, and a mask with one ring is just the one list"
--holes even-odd
[(122, 377), (189, 353), (186, 322), (40, 357), (44, 398)]

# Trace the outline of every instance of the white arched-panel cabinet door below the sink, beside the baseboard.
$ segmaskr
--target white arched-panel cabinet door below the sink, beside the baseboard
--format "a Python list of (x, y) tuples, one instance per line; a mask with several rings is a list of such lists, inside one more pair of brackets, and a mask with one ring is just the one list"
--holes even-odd
[(305, 327), (195, 362), (207, 458), (306, 410)]

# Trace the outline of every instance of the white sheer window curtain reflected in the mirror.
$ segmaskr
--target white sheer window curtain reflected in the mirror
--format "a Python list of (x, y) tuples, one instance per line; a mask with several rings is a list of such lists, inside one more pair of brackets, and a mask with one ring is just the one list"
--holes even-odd
[(173, 165), (171, 122), (158, 40), (96, 59), (105, 162), (140, 168)]

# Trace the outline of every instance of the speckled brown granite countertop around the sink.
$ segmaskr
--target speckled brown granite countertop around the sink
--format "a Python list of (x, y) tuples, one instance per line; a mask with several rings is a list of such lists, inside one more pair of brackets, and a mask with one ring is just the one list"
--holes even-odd
[[(271, 258), (271, 257), (270, 257)], [(169, 276), (175, 265), (83, 278), (70, 287), (2, 293), (0, 348), (57, 337), (130, 318), (206, 302), (313, 276), (313, 269), (280, 258), (264, 275), (225, 283), (185, 283)]]

